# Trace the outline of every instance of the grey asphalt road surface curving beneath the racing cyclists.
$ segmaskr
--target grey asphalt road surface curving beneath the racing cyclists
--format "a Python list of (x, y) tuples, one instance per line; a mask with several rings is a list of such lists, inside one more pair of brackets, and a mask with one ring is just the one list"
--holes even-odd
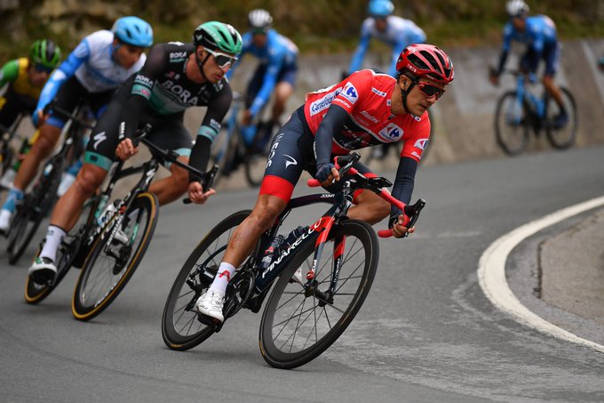
[[(131, 283), (89, 323), (71, 317), (76, 270), (30, 306), (27, 259), (9, 266), (0, 252), (0, 401), (602, 401), (604, 356), (497, 310), (476, 270), (505, 233), (604, 194), (603, 160), (604, 148), (593, 147), (422, 167), (414, 198), (427, 206), (417, 233), (380, 241), (377, 277), (353, 324), (321, 357), (291, 371), (266, 365), (260, 314), (247, 310), (192, 351), (170, 351), (162, 341), (163, 303), (180, 265), (213, 225), (250, 208), (256, 190), (163, 207)], [(292, 226), (317, 214), (292, 215)], [(536, 279), (519, 269), (524, 247), (507, 269), (514, 292), (539, 310), (542, 302), (530, 304)]]

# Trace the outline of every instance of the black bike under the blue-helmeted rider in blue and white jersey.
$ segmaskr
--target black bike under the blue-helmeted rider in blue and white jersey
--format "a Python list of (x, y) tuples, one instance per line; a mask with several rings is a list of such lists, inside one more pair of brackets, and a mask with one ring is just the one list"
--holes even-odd
[[(57, 110), (56, 107), (53, 109)], [(59, 151), (45, 164), (31, 191), (17, 203), (11, 227), (8, 230), (8, 262), (15, 264), (26, 251), (29, 242), (36, 235), (40, 223), (52, 211), (57, 200), (57, 189), (65, 168), (76, 161), (83, 151), (83, 137), (92, 128), (89, 110), (84, 104), (76, 107), (73, 113), (57, 110), (68, 117), (61, 137), (65, 137)]]

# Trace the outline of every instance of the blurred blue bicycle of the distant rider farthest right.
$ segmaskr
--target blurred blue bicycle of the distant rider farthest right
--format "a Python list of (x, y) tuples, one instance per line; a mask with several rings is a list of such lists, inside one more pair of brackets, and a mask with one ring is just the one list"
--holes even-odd
[(516, 77), (516, 89), (505, 92), (497, 101), (495, 133), (497, 144), (508, 155), (520, 154), (528, 147), (530, 132), (538, 137), (545, 131), (554, 149), (568, 149), (576, 140), (576, 102), (567, 88), (560, 87), (562, 101), (568, 114), (564, 125), (556, 123), (560, 107), (546, 92), (533, 89), (536, 76), (520, 71), (506, 71)]

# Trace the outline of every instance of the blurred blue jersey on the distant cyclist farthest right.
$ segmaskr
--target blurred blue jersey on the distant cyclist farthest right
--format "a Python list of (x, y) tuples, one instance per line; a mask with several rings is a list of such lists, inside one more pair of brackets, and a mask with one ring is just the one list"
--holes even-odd
[(545, 45), (558, 42), (556, 25), (546, 15), (535, 15), (527, 17), (526, 28), (520, 32), (513, 27), (512, 21), (505, 24), (504, 28), (504, 52), (510, 51), (512, 41), (527, 44), (537, 53), (544, 51)]

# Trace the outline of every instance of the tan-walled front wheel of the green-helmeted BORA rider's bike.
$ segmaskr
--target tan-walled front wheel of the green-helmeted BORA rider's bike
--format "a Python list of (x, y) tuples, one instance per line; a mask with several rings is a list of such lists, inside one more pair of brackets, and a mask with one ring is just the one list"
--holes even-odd
[[(125, 218), (135, 210), (139, 211), (121, 229), (130, 240), (126, 244), (115, 243), (115, 238), (109, 240), (108, 237), (115, 230), (119, 214), (115, 214), (100, 231), (92, 242), (77, 279), (71, 303), (74, 318), (83, 321), (95, 318), (122, 292), (151, 242), (158, 218), (158, 206), (157, 197), (153, 193), (141, 193), (134, 199), (130, 208), (123, 213)], [(107, 242), (111, 244), (107, 246)]]

